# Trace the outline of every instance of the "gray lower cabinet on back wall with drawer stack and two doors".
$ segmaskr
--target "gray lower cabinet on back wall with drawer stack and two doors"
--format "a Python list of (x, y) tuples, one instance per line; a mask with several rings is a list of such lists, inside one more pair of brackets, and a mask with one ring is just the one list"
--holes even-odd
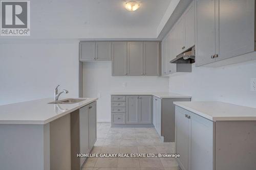
[(111, 123), (152, 125), (152, 95), (111, 95)]

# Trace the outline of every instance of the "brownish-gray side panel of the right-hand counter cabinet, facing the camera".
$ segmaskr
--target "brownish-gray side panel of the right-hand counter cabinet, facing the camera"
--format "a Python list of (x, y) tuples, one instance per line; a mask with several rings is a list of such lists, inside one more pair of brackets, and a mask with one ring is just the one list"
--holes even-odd
[(256, 169), (256, 121), (216, 122), (216, 170)]

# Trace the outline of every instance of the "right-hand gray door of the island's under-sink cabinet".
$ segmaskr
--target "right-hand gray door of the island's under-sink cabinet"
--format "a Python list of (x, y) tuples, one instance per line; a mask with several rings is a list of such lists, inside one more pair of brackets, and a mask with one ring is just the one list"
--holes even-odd
[(93, 148), (97, 139), (97, 116), (96, 116), (96, 102), (90, 104), (89, 110), (89, 147)]

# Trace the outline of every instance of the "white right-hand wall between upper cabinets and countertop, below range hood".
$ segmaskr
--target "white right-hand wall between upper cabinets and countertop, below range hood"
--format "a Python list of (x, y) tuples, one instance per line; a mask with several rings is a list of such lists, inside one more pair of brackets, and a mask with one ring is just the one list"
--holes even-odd
[(169, 91), (193, 96), (193, 101), (220, 101), (256, 108), (256, 60), (217, 68), (195, 67), (192, 72), (169, 77)]

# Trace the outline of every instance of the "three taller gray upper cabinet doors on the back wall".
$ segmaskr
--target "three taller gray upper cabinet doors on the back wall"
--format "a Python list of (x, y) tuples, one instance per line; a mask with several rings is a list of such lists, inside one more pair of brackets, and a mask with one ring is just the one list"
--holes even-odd
[(112, 76), (159, 76), (159, 42), (112, 42)]

